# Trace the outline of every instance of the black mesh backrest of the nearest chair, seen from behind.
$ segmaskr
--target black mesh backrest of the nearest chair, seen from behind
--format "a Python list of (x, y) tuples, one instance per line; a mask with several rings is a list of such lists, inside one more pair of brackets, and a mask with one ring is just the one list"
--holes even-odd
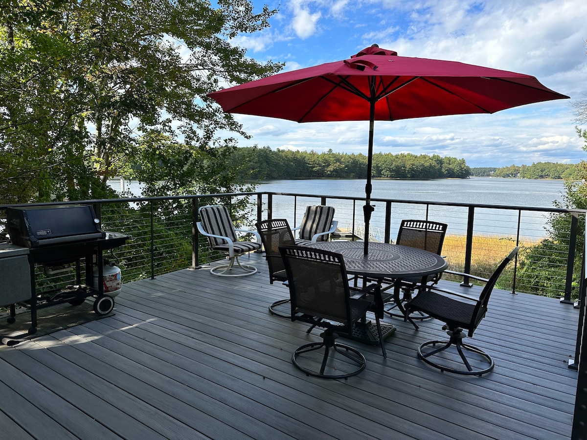
[(281, 246), (279, 250), (288, 275), (292, 321), (315, 323), (309, 317), (318, 317), (352, 325), (349, 283), (342, 255), (302, 246)]

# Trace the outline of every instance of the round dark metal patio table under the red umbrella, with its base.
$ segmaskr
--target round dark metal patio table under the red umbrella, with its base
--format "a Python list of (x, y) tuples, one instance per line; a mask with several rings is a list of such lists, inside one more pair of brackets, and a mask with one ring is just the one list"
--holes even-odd
[[(410, 248), (410, 246), (392, 245), (390, 243), (369, 242), (369, 253), (363, 255), (363, 242), (359, 241), (329, 241), (312, 243), (308, 247), (323, 249), (324, 251), (340, 253), (345, 260), (346, 272), (350, 275), (363, 276), (371, 279), (392, 279), (393, 300), (397, 309), (405, 315), (406, 310), (402, 304), (401, 285), (402, 279), (422, 279), (423, 285), (426, 277), (435, 273), (443, 272), (448, 263), (440, 255), (423, 249)], [(407, 320), (417, 329), (418, 326), (408, 317)], [(365, 329), (357, 329), (353, 339), (366, 342), (367, 337), (370, 343), (379, 343), (377, 331), (372, 329), (369, 322), (365, 323)], [(383, 329), (386, 326), (386, 329)], [(387, 327), (393, 327), (387, 328)], [(366, 335), (360, 335), (364, 330)], [(382, 324), (383, 337), (393, 333), (395, 327), (390, 324)], [(355, 333), (355, 332), (353, 332)]]

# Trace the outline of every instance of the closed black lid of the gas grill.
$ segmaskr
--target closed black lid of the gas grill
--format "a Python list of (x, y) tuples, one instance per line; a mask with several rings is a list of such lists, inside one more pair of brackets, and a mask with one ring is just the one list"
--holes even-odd
[(6, 208), (6, 226), (12, 243), (25, 248), (106, 236), (90, 205)]

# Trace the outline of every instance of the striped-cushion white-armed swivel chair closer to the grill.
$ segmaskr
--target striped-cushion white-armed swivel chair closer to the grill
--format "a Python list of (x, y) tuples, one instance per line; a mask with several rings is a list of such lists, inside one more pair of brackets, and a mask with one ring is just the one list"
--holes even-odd
[[(208, 205), (198, 209), (200, 221), (197, 222), (198, 231), (208, 238), (208, 243), (214, 251), (224, 253), (230, 259), (227, 264), (214, 266), (210, 273), (218, 276), (245, 276), (257, 273), (257, 268), (250, 265), (241, 265), (238, 260), (243, 253), (261, 249), (261, 236), (257, 231), (235, 229), (228, 209), (218, 205)], [(257, 242), (238, 241), (237, 232), (252, 233)], [(234, 263), (241, 270), (233, 271)]]

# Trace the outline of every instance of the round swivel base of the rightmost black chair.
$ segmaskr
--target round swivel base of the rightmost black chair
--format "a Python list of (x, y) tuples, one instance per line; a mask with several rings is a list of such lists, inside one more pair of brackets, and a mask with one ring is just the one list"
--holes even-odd
[[(438, 368), (438, 370), (440, 371), (448, 371), (448, 373), (480, 376), (482, 374), (489, 373), (491, 370), (493, 370), (493, 367), (495, 367), (495, 363), (491, 356), (489, 356), (487, 353), (485, 353), (477, 347), (464, 344), (464, 334), (462, 334), (460, 331), (453, 332), (450, 330), (447, 331), (447, 334), (448, 336), (450, 336), (450, 340), (448, 341), (427, 341), (421, 344), (420, 347), (418, 347), (418, 357), (427, 364), (431, 365), (432, 367)], [(424, 347), (434, 347), (436, 346), (436, 344), (443, 344), (443, 346), (440, 348), (436, 348), (432, 351), (428, 351), (427, 353), (424, 353)], [(441, 351), (445, 351), (452, 346), (456, 347), (457, 353), (463, 361), (464, 366), (467, 368), (467, 370), (457, 370), (456, 368), (448, 367), (447, 365), (436, 363), (430, 360), (430, 357), (434, 356), (435, 354), (441, 353)], [(467, 357), (465, 357), (465, 351), (476, 354), (478, 360), (475, 360), (475, 363), (480, 362), (481, 364), (485, 365), (485, 368), (471, 366), (470, 361), (467, 359)]]

